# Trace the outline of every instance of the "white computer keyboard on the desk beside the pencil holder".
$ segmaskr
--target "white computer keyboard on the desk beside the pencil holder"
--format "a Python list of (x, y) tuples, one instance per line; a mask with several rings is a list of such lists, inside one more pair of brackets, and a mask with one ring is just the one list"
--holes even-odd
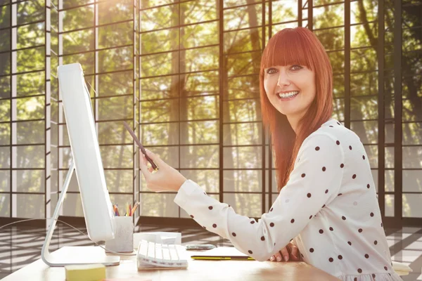
[(158, 244), (141, 240), (136, 260), (138, 270), (187, 268), (186, 249), (181, 245)]

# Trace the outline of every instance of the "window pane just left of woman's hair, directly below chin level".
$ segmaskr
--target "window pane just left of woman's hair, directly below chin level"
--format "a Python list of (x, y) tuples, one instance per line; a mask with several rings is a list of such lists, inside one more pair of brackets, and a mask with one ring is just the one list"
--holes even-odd
[(224, 124), (223, 138), (223, 145), (259, 145), (262, 143), (262, 124)]

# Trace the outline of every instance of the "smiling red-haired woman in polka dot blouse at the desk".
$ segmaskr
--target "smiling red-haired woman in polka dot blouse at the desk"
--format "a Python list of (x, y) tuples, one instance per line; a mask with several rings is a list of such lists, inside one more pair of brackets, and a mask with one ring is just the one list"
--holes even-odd
[[(392, 270), (371, 167), (359, 137), (332, 119), (333, 74), (309, 30), (281, 30), (264, 49), (260, 69), (263, 122), (276, 158), (279, 196), (259, 221), (208, 197), (162, 162), (141, 171), (149, 189), (174, 199), (203, 228), (229, 239), (257, 261), (286, 255), (340, 280), (401, 280)], [(287, 260), (287, 259), (285, 259)]]

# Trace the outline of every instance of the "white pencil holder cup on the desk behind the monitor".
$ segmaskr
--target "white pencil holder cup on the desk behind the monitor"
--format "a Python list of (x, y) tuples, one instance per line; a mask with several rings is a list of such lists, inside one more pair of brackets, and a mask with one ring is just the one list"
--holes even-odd
[(106, 241), (106, 252), (134, 250), (134, 223), (132, 216), (115, 216), (115, 238)]

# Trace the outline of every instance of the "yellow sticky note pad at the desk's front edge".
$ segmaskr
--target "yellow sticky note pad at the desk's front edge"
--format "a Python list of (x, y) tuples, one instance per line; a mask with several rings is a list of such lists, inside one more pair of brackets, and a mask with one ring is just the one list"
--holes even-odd
[(106, 266), (98, 264), (81, 264), (65, 266), (66, 281), (98, 281), (106, 279)]

